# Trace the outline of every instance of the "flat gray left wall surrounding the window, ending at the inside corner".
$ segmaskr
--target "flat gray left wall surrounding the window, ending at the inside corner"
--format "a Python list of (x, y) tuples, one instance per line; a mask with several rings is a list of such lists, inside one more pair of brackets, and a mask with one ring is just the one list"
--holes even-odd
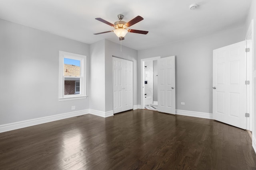
[(58, 101), (59, 50), (89, 56), (88, 44), (0, 20), (0, 125), (89, 108)]

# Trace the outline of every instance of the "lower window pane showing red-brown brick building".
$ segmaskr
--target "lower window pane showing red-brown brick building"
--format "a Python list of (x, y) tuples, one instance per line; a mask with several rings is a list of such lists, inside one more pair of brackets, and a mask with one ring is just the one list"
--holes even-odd
[(64, 95), (80, 94), (80, 87), (76, 87), (76, 84), (80, 85), (80, 78), (64, 78)]

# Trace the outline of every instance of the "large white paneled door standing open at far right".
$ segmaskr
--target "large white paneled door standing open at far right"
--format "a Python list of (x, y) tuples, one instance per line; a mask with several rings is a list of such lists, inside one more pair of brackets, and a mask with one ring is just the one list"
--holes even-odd
[(246, 129), (246, 42), (213, 50), (213, 119)]

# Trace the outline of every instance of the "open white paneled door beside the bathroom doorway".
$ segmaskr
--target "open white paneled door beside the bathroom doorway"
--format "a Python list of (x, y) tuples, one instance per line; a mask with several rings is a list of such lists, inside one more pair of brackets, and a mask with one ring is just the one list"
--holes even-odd
[(158, 111), (175, 114), (175, 56), (158, 59)]

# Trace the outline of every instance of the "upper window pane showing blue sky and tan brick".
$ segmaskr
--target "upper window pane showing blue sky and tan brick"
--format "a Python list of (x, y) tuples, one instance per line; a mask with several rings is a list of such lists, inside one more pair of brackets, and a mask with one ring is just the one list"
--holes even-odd
[(80, 60), (64, 58), (64, 76), (80, 76)]

